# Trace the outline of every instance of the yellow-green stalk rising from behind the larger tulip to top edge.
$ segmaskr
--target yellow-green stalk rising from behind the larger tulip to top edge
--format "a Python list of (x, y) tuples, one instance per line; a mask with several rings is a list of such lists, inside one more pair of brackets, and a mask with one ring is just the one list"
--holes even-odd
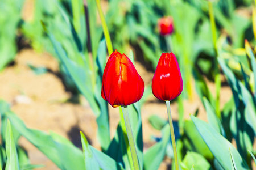
[(97, 8), (98, 8), (98, 14), (100, 14), (100, 18), (101, 18), (101, 24), (102, 24), (104, 36), (105, 36), (105, 39), (106, 39), (106, 46), (108, 48), (108, 53), (110, 55), (111, 53), (113, 53), (113, 46), (112, 46), (112, 42), (111, 42), (111, 39), (110, 39), (109, 30), (108, 30), (108, 27), (106, 25), (106, 20), (104, 18), (104, 14), (102, 12), (100, 0), (95, 0), (95, 1), (96, 1), (96, 5), (97, 5)]

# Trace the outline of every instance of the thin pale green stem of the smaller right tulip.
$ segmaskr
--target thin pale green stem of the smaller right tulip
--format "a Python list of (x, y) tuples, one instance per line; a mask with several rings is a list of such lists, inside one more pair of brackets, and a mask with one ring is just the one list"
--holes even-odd
[(168, 100), (166, 100), (166, 107), (167, 107), (168, 120), (169, 120), (170, 131), (171, 131), (172, 150), (174, 150), (175, 169), (179, 170), (179, 164), (177, 159), (177, 148), (176, 148), (175, 135), (174, 135), (174, 125), (172, 124), (171, 106), (170, 106), (170, 101)]

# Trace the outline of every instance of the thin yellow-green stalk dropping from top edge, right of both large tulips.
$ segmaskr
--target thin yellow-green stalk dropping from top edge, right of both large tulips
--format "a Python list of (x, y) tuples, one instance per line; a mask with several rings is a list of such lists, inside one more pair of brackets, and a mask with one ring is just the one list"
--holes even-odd
[(210, 17), (210, 27), (212, 28), (212, 40), (213, 40), (213, 46), (214, 50), (216, 52), (216, 58), (215, 61), (215, 69), (214, 69), (214, 75), (215, 75), (215, 84), (216, 84), (216, 114), (218, 117), (220, 117), (220, 89), (221, 89), (221, 76), (220, 76), (220, 69), (218, 68), (218, 50), (217, 50), (217, 31), (216, 31), (216, 22), (214, 19), (214, 12), (213, 12), (213, 5), (212, 1), (208, 1), (208, 7), (209, 7), (209, 17)]

